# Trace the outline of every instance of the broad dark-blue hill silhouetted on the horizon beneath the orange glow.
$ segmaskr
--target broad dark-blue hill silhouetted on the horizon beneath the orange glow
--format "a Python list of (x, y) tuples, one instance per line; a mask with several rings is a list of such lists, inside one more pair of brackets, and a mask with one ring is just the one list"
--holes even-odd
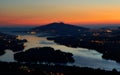
[(43, 26), (38, 26), (33, 28), (32, 31), (36, 32), (44, 32), (53, 35), (79, 35), (85, 31), (89, 30), (89, 28), (65, 24), (65, 23), (50, 23)]

